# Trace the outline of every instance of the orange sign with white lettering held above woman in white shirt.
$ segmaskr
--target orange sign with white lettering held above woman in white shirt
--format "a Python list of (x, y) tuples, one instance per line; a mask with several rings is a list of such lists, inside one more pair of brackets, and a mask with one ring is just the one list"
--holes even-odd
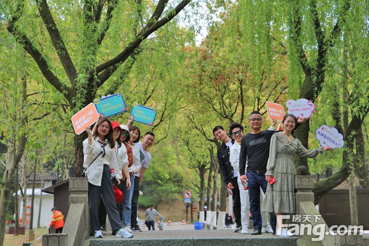
[(72, 116), (72, 124), (74, 131), (77, 135), (80, 135), (86, 130), (87, 126), (92, 125), (99, 119), (95, 104), (90, 103), (76, 114)]

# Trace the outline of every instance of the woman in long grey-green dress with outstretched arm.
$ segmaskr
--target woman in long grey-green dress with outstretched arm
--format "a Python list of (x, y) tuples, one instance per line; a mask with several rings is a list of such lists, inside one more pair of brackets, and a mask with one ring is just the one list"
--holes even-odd
[[(283, 131), (273, 134), (270, 143), (269, 159), (265, 179), (269, 182), (261, 210), (278, 215), (295, 214), (295, 175), (296, 169), (293, 156), (299, 154), (307, 158), (315, 158), (331, 147), (319, 147), (308, 151), (300, 140), (292, 136), (297, 119), (294, 115), (285, 115)], [(279, 231), (281, 232), (279, 234)], [(277, 235), (293, 236), (287, 228), (278, 228)]]

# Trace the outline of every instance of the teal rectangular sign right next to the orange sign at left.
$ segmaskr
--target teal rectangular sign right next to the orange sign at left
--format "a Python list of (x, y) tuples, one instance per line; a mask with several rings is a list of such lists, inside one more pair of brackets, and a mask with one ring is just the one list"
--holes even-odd
[(121, 93), (103, 96), (101, 99), (93, 100), (93, 103), (96, 105), (97, 112), (104, 115), (104, 117), (117, 115), (127, 110)]

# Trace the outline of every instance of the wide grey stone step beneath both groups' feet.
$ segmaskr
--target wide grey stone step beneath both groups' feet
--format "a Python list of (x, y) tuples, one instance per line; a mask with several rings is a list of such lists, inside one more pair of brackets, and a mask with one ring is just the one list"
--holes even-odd
[(250, 235), (232, 230), (143, 231), (130, 239), (116, 238), (111, 233), (102, 239), (91, 237), (84, 245), (90, 246), (296, 246), (298, 237), (282, 238), (268, 233)]

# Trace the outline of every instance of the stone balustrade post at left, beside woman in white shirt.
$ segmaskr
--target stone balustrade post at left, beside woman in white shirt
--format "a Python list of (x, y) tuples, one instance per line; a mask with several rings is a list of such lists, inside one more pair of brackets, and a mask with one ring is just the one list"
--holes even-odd
[(84, 204), (86, 239), (88, 239), (91, 233), (88, 190), (89, 184), (87, 178), (69, 178), (69, 208), (72, 203)]

